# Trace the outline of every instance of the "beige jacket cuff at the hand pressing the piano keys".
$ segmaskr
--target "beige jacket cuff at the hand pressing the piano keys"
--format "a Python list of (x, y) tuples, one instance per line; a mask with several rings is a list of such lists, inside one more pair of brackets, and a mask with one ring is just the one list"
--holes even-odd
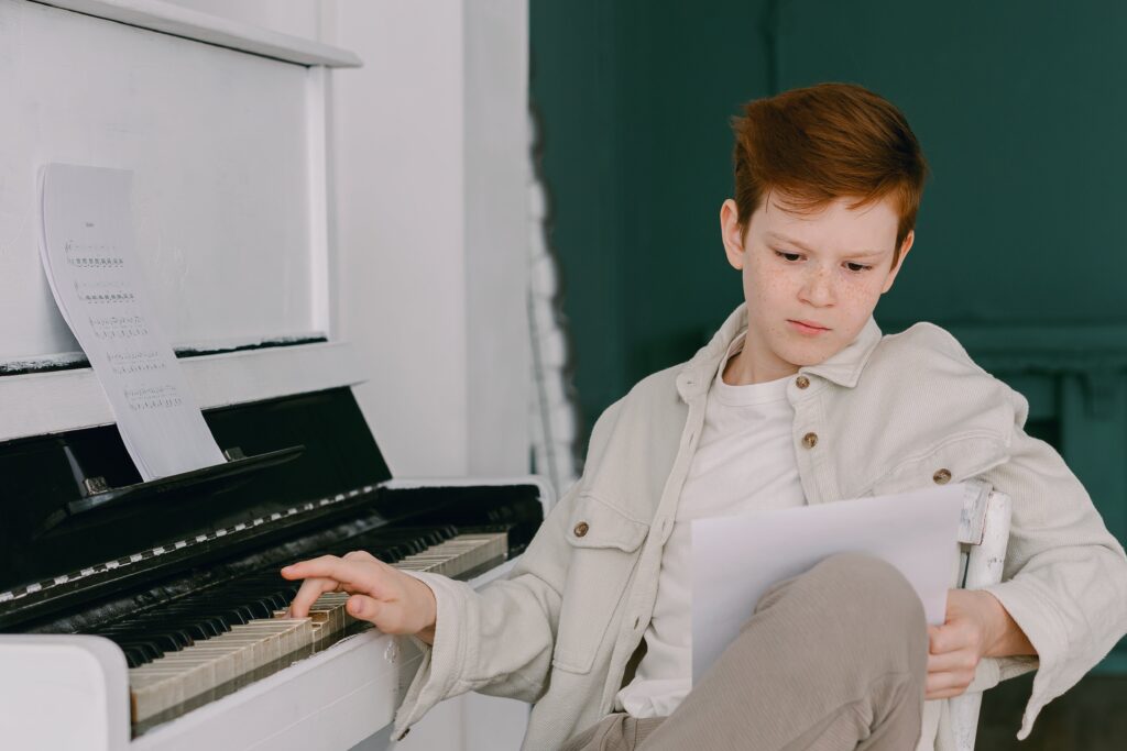
[(406, 735), (410, 725), (421, 719), (434, 705), (461, 692), (456, 687), (465, 662), (465, 602), (464, 592), (460, 589), (464, 584), (438, 574), (419, 571), (403, 573), (421, 581), (434, 592), (435, 631), (433, 645), (410, 637), (423, 651), (423, 662), (396, 712), (394, 739)]

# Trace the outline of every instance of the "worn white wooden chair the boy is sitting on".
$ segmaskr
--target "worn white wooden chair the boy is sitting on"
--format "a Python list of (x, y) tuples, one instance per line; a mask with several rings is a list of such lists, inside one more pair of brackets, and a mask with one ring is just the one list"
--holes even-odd
[[(968, 484), (977, 492), (968, 492), (959, 520), (959, 587), (979, 589), (1002, 581), (1010, 540), (1011, 501), (1009, 495), (994, 491), (986, 483)], [(982, 691), (949, 699), (950, 728), (959, 751), (975, 748), (982, 699)]]

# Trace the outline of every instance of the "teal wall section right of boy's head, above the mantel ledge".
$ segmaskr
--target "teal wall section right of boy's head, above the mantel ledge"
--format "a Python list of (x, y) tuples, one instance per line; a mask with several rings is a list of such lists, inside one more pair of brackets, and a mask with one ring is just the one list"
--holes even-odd
[(1127, 320), (1127, 6), (782, 5), (779, 83), (857, 81), (931, 161), (884, 319)]

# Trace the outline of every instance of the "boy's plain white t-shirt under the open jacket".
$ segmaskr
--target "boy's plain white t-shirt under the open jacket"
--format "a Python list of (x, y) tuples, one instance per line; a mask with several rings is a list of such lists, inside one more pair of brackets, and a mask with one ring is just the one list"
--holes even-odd
[(746, 386), (724, 382), (737, 338), (709, 390), (704, 427), (662, 552), (646, 656), (616, 704), (635, 717), (667, 717), (692, 688), (692, 520), (805, 506), (787, 400), (793, 376)]

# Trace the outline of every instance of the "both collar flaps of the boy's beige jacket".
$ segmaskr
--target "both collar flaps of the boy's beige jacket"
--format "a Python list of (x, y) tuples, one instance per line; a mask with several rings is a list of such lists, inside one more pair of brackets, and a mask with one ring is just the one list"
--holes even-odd
[[(694, 396), (707, 393), (720, 367), (720, 359), (728, 352), (733, 340), (747, 329), (747, 305), (737, 307), (712, 340), (702, 347), (693, 359), (689, 360), (677, 374), (677, 392), (683, 400), (691, 401)], [(816, 375), (831, 381), (838, 386), (852, 388), (861, 378), (872, 350), (880, 343), (880, 327), (870, 316), (861, 333), (850, 345), (824, 363), (808, 365), (800, 373)]]

